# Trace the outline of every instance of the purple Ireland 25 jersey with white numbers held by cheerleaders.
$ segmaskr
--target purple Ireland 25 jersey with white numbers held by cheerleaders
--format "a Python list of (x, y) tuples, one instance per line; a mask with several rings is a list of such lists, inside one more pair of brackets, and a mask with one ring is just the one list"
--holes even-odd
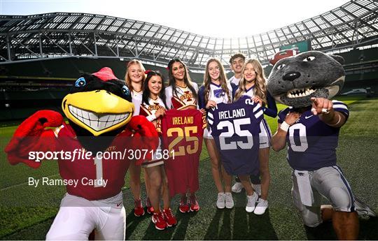
[(218, 103), (208, 112), (208, 122), (221, 160), (229, 175), (257, 175), (261, 105), (250, 98)]

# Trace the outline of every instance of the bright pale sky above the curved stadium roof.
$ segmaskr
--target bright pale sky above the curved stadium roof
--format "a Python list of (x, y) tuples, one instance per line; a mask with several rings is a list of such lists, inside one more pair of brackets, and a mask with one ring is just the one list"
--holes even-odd
[(235, 38), (284, 27), (342, 6), (346, 0), (0, 0), (1, 15), (97, 13), (162, 24), (204, 36)]

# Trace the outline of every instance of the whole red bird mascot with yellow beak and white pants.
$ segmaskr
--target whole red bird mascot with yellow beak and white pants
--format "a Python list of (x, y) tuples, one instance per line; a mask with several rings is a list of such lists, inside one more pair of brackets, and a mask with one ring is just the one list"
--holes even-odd
[(47, 240), (87, 240), (93, 230), (97, 240), (124, 240), (128, 154), (156, 149), (158, 133), (145, 117), (132, 117), (130, 90), (111, 68), (76, 80), (62, 109), (69, 124), (52, 110), (22, 122), (5, 149), (8, 161), (38, 168), (41, 154), (59, 156), (67, 193)]

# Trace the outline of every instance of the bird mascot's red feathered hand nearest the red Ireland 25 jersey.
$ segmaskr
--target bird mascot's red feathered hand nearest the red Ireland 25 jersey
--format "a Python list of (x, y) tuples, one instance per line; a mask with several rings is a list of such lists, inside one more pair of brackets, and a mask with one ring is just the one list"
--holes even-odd
[[(145, 157), (146, 160), (151, 160), (151, 150), (155, 152), (159, 145), (158, 131), (156, 131), (152, 122), (149, 122), (146, 117), (141, 115), (132, 117), (127, 124), (127, 128), (120, 135), (129, 137), (127, 138), (128, 149), (148, 150), (146, 156), (144, 156), (144, 154), (141, 155)], [(132, 136), (132, 138), (130, 138), (130, 136)], [(142, 161), (144, 161), (144, 159), (137, 160), (137, 165), (140, 165)]]

